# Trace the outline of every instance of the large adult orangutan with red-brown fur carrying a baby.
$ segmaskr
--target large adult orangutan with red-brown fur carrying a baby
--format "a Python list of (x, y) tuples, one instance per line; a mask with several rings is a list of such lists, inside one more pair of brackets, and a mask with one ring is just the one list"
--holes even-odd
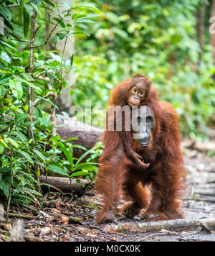
[[(120, 83), (120, 90), (113, 90), (110, 104), (120, 102), (120, 106), (124, 106), (128, 103), (131, 81), (124, 81)], [(116, 222), (121, 195), (132, 201), (120, 210), (127, 217), (145, 209), (146, 217), (154, 214), (156, 219), (181, 219), (180, 196), (186, 172), (179, 147), (178, 115), (171, 104), (158, 101), (152, 86), (131, 113), (130, 132), (106, 130), (104, 133), (105, 149), (95, 183), (104, 205), (96, 221), (98, 224)], [(140, 157), (149, 165), (141, 165), (137, 161)], [(150, 193), (145, 186), (149, 186)]]

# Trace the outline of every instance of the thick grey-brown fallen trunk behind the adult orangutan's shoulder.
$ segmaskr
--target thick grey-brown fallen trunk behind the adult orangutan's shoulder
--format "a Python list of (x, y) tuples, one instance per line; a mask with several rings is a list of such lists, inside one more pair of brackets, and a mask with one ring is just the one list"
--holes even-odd
[[(74, 118), (67, 118), (60, 116), (55, 119), (57, 126), (57, 134), (62, 137), (63, 140), (70, 138), (77, 138), (78, 140), (71, 140), (72, 144), (82, 145), (90, 150), (96, 142), (100, 141), (102, 137), (103, 129), (92, 127), (89, 124), (76, 121)], [(80, 148), (74, 148), (74, 156), (80, 157), (85, 151)]]

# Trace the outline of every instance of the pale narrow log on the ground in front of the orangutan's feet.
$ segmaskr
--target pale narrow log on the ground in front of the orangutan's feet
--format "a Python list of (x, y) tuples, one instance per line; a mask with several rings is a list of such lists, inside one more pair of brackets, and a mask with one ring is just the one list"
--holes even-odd
[(209, 231), (215, 230), (215, 219), (171, 219), (167, 221), (123, 222), (108, 224), (105, 232), (159, 232), (162, 229), (169, 231), (194, 230), (202, 227)]

